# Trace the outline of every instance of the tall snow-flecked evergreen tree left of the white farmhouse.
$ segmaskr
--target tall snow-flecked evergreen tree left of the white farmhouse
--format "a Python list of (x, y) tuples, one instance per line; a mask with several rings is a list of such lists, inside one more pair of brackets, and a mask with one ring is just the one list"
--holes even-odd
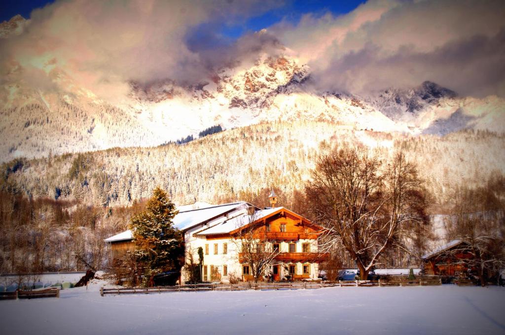
[(172, 225), (177, 213), (167, 193), (156, 187), (145, 211), (131, 220), (135, 254), (144, 269), (144, 286), (154, 285), (153, 277), (162, 272), (181, 268), (182, 234)]

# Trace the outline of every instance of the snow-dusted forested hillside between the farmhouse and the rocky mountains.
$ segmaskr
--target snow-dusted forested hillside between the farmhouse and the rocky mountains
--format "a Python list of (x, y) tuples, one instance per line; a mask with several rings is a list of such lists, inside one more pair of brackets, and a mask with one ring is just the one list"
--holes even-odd
[(382, 157), (404, 151), (418, 164), (435, 202), (442, 203), (462, 185), (479, 185), (493, 173), (505, 173), (504, 140), (487, 131), (415, 137), (357, 131), (332, 122), (260, 123), (184, 145), (16, 159), (2, 165), (0, 187), (102, 206), (131, 204), (149, 196), (157, 185), (178, 205), (219, 203), (279, 187), (289, 203), (293, 190), (304, 187), (317, 157), (348, 144), (369, 147)]

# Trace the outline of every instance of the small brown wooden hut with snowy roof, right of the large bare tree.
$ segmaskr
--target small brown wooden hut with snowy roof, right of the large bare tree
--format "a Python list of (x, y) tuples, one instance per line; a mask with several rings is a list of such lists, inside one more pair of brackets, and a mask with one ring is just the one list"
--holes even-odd
[(457, 273), (466, 274), (468, 267), (463, 260), (470, 257), (470, 254), (464, 250), (464, 241), (452, 240), (423, 255), (421, 258), (424, 261), (426, 275), (455, 276)]

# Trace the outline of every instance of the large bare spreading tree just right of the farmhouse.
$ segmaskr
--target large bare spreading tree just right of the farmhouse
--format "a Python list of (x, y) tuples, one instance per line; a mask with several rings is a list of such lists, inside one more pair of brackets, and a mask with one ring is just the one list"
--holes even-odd
[(385, 250), (405, 248), (413, 228), (427, 222), (416, 167), (401, 153), (386, 165), (365, 150), (334, 150), (317, 161), (306, 195), (327, 244), (340, 243), (363, 279)]

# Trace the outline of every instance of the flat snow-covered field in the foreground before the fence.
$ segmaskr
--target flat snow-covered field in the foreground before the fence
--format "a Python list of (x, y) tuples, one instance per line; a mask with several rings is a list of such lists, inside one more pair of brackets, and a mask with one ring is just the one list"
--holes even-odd
[(0, 301), (4, 334), (504, 334), (500, 287), (334, 287)]

